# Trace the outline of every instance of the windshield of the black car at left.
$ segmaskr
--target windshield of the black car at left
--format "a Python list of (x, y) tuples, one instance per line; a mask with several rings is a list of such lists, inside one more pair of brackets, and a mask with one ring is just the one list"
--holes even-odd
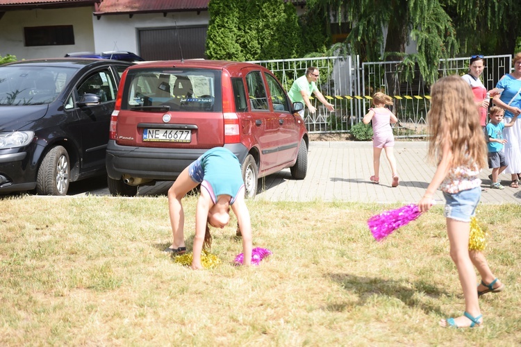
[(0, 105), (51, 103), (76, 71), (69, 67), (0, 66)]

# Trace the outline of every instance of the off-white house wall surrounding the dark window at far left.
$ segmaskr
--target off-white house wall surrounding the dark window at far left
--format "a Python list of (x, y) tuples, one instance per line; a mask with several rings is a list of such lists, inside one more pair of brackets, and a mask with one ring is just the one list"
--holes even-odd
[[(94, 7), (56, 10), (7, 11), (0, 19), (0, 56), (11, 54), (18, 60), (63, 57), (65, 53), (94, 51), (92, 12)], [(24, 46), (24, 27), (72, 25), (74, 44)]]

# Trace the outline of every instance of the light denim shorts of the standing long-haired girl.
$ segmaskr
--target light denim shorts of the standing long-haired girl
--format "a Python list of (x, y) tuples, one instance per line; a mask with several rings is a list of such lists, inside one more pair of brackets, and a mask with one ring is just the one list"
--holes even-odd
[(443, 192), (445, 196), (445, 217), (456, 221), (470, 222), (476, 214), (476, 207), (481, 198), (481, 187), (462, 190), (456, 194)]

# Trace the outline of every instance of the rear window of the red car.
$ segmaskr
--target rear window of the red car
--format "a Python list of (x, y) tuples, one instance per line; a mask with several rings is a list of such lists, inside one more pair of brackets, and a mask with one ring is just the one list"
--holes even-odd
[(219, 70), (131, 69), (126, 76), (122, 110), (162, 106), (174, 112), (220, 112), (220, 86)]

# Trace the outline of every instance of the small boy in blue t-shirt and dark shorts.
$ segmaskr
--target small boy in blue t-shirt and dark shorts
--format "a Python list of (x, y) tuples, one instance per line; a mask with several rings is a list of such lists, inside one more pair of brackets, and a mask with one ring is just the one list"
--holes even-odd
[(497, 177), (501, 174), (506, 167), (505, 155), (502, 152), (503, 146), (506, 143), (506, 139), (503, 139), (503, 129), (513, 126), (514, 122), (518, 117), (512, 117), (510, 123), (503, 123), (504, 111), (498, 106), (490, 108), (490, 122), (486, 126), (486, 133), (488, 135), (488, 167), (492, 169), (492, 175), (488, 176), (492, 180), (490, 188), (505, 189), (499, 184)]

